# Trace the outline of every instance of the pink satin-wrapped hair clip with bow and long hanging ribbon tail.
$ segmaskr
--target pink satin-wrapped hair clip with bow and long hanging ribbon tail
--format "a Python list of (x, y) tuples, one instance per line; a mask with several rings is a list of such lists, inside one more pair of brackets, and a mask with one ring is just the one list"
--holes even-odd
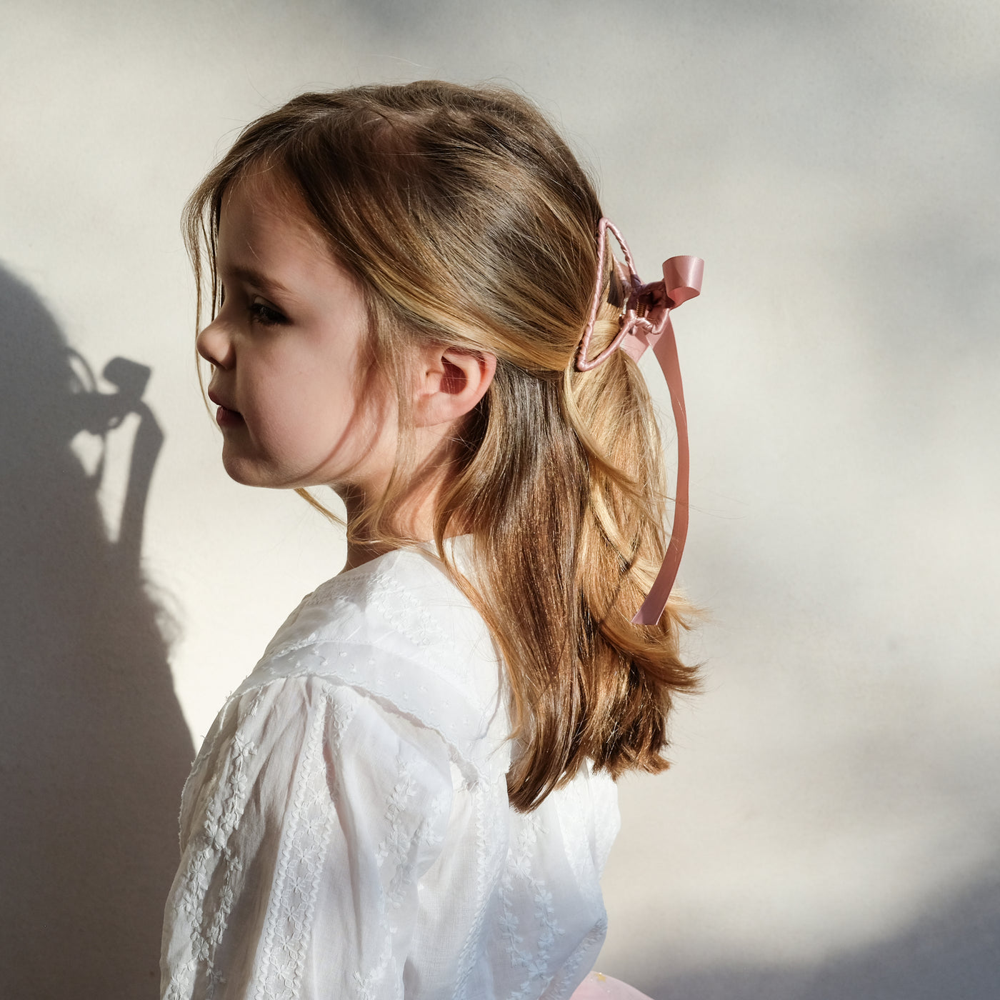
[[(590, 346), (590, 337), (594, 332), (594, 323), (601, 304), (601, 290), (604, 284), (604, 242), (608, 230), (614, 235), (625, 254), (628, 273), (623, 277), (626, 287), (631, 286), (631, 293), (614, 340), (596, 358), (588, 358), (587, 348)], [(677, 357), (677, 342), (670, 321), (670, 311), (701, 292), (705, 262), (700, 257), (671, 257), (663, 263), (663, 280), (647, 285), (643, 284), (636, 274), (632, 253), (625, 238), (608, 219), (602, 218), (598, 224), (597, 245), (599, 256), (597, 282), (590, 308), (590, 320), (577, 352), (577, 370), (586, 372), (596, 368), (619, 347), (633, 360), (638, 361), (647, 348), (651, 347), (660, 364), (663, 377), (667, 380), (670, 405), (674, 411), (674, 424), (677, 428), (677, 489), (674, 493), (674, 523), (670, 532), (670, 543), (667, 545), (666, 555), (653, 586), (646, 595), (646, 600), (642, 602), (642, 607), (632, 619), (636, 625), (655, 625), (667, 606), (667, 599), (677, 579), (688, 529), (690, 453), (687, 413), (684, 409), (684, 386), (681, 383), (680, 361)], [(615, 266), (619, 267), (617, 263)]]

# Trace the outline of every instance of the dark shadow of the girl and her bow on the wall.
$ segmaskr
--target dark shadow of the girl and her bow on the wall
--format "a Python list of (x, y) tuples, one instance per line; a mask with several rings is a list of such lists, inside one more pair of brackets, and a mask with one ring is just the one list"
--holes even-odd
[[(115, 359), (117, 393), (38, 297), (0, 268), (0, 995), (159, 995), (163, 905), (193, 756), (158, 610), (140, 570), (162, 433), (144, 369)], [(111, 541), (70, 448), (139, 420)], [(135, 418), (132, 418), (133, 420)]]

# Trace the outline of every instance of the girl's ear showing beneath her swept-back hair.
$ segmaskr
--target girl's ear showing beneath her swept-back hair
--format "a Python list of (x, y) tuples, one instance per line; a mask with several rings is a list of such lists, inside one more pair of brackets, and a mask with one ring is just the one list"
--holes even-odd
[(464, 417), (486, 395), (496, 368), (495, 354), (428, 345), (417, 370), (414, 423), (433, 427)]

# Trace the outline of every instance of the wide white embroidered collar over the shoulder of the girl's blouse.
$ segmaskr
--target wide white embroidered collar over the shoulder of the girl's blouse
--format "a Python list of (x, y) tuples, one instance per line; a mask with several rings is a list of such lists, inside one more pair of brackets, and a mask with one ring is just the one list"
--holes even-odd
[[(485, 623), (433, 552), (400, 549), (309, 594), (271, 640), (241, 697), (317, 677), (436, 731), (457, 763), (505, 766), (500, 661)], [(468, 774), (473, 777), (473, 774)]]

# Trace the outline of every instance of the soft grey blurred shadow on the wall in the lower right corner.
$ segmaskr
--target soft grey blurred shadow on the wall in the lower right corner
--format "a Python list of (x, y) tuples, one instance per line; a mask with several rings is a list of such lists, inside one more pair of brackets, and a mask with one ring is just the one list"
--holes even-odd
[(995, 1000), (998, 942), (994, 867), (892, 940), (798, 969), (705, 969), (650, 992), (657, 1000)]

